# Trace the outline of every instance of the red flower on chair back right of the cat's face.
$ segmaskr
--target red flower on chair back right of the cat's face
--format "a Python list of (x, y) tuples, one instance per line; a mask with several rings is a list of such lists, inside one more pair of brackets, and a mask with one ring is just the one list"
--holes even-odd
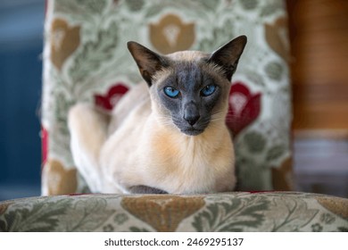
[(261, 93), (252, 94), (243, 82), (232, 84), (228, 100), (226, 124), (233, 136), (250, 125), (261, 111)]

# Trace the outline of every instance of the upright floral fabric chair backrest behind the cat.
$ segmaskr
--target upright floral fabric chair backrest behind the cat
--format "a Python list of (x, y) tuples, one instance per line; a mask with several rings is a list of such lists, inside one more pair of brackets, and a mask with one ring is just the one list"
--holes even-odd
[[(248, 44), (233, 78), (228, 128), (239, 190), (291, 189), (286, 8), (279, 0), (47, 1), (42, 103), (42, 194), (88, 192), (70, 154), (67, 112), (110, 110), (141, 81), (127, 49), (212, 52), (239, 35)], [(69, 199), (66, 199), (68, 201)]]

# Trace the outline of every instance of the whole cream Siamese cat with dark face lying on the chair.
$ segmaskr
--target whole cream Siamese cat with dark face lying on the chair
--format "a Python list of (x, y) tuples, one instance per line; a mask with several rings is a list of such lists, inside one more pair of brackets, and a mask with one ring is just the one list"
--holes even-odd
[(235, 154), (225, 125), (231, 78), (246, 37), (212, 54), (128, 50), (144, 84), (106, 114), (89, 104), (69, 112), (73, 160), (92, 192), (200, 194), (232, 191)]

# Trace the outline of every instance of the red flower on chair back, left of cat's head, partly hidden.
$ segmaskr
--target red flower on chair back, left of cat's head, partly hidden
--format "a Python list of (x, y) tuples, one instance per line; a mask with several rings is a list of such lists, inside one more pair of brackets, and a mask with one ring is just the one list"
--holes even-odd
[(128, 87), (122, 83), (116, 83), (109, 88), (108, 92), (103, 95), (95, 95), (95, 105), (104, 108), (105, 110), (112, 110), (124, 94), (128, 91)]

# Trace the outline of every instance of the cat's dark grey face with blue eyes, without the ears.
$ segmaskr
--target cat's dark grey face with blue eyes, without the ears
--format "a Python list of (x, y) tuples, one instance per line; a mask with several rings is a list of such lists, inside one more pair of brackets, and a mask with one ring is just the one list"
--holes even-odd
[[(208, 65), (205, 54), (186, 52), (169, 57), (174, 57), (175, 63), (155, 77), (151, 87), (153, 105), (162, 114), (162, 121), (171, 120), (181, 132), (195, 136), (211, 121), (224, 120), (228, 79)], [(186, 60), (187, 57), (195, 60)]]

